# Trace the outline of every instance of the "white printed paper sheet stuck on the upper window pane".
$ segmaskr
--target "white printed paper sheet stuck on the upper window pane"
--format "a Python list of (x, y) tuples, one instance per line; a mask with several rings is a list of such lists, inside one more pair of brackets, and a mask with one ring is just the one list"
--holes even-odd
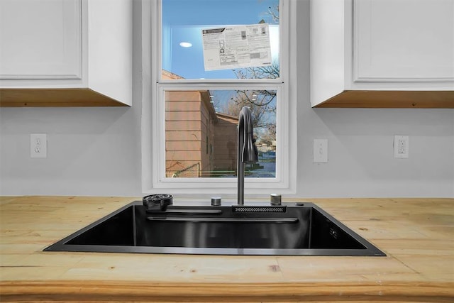
[(205, 70), (271, 65), (268, 24), (202, 29)]

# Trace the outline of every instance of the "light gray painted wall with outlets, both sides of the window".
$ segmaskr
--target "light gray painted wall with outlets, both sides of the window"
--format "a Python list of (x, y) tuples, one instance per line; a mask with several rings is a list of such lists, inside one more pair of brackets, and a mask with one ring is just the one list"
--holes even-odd
[[(131, 108), (0, 109), (0, 195), (140, 196), (140, 7), (135, 1)], [(299, 197), (454, 197), (453, 109), (311, 109), (309, 1), (298, 1)], [(30, 133), (48, 134), (32, 159)], [(409, 159), (393, 158), (394, 135)], [(328, 163), (312, 162), (314, 138)]]

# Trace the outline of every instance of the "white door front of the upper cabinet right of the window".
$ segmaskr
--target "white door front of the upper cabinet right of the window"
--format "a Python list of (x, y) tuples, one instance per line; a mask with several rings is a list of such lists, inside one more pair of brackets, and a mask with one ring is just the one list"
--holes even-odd
[(356, 0), (354, 82), (454, 80), (453, 0)]

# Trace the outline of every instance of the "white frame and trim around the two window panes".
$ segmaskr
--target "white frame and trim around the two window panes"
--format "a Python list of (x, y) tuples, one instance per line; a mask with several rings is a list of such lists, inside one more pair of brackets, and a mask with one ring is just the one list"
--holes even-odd
[[(282, 194), (296, 193), (297, 167), (297, 115), (296, 67), (289, 61), (296, 62), (296, 45), (289, 37), (296, 36), (297, 0), (279, 0), (280, 22), (279, 36), (279, 79), (161, 79), (161, 19), (160, 1), (151, 1), (143, 5), (143, 52), (147, 50), (147, 33), (150, 33), (150, 62), (143, 54), (143, 68), (150, 67), (150, 87), (143, 77), (142, 104), (142, 191), (143, 194), (160, 192), (165, 189), (171, 194), (236, 194), (236, 178), (171, 178), (165, 177), (165, 102), (164, 92), (172, 90), (216, 90), (216, 89), (276, 89), (277, 94), (277, 156), (276, 177), (245, 178), (245, 194), (263, 195), (264, 189)], [(150, 29), (147, 31), (147, 27)], [(145, 30), (145, 31), (144, 31)], [(282, 41), (287, 41), (282, 43)], [(145, 43), (145, 44), (144, 44)], [(294, 61), (293, 61), (294, 60)], [(145, 63), (145, 64), (144, 64)], [(282, 72), (287, 70), (288, 72)], [(146, 75), (145, 75), (146, 76)], [(148, 78), (149, 79), (149, 78)], [(189, 86), (188, 86), (189, 84)], [(148, 99), (149, 98), (149, 99)], [(151, 131), (150, 131), (151, 130)], [(203, 192), (200, 191), (203, 189)]]

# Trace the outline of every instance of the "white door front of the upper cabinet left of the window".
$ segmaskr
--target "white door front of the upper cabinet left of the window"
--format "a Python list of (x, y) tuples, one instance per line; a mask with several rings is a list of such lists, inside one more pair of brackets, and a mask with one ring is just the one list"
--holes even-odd
[(0, 79), (81, 79), (80, 0), (1, 0)]

